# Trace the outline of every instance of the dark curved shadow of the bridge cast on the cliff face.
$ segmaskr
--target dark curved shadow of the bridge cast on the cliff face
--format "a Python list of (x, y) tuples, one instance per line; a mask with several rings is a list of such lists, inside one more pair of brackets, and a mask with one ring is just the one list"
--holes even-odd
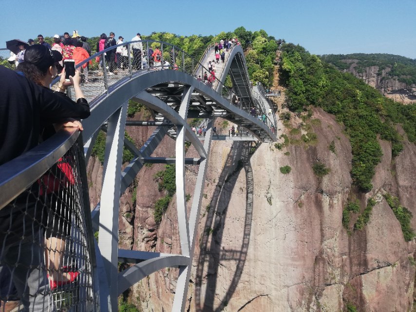
[[(251, 142), (234, 142), (227, 161), (220, 175), (214, 195), (212, 196), (204, 233), (201, 234), (200, 255), (196, 270), (195, 281), (195, 304), (196, 310), (201, 312), (219, 312), (227, 306), (228, 301), (235, 292), (240, 281), (241, 274), (246, 263), (246, 255), (251, 233), (251, 221), (253, 212), (253, 172), (250, 165), (250, 157), (257, 149), (251, 146)], [(234, 190), (240, 171), (244, 168), (246, 172), (246, 216), (242, 245), (239, 250), (225, 250), (221, 248), (224, 224), (227, 216), (228, 205)], [(207, 209), (208, 210), (208, 209)], [(209, 239), (211, 238), (211, 240)], [(215, 289), (217, 286), (218, 268), (220, 262), (235, 261), (236, 269), (229, 284), (228, 290), (221, 299), (221, 304), (215, 308)], [(204, 269), (208, 262), (207, 284), (205, 296), (202, 296)], [(202, 302), (203, 300), (203, 302)]]

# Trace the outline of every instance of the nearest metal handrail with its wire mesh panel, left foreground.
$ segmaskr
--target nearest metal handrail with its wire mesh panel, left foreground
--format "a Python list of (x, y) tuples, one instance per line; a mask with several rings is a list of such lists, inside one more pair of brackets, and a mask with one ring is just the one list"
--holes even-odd
[(78, 135), (75, 128), (58, 132), (0, 166), (0, 295), (19, 309), (98, 309), (88, 181)]

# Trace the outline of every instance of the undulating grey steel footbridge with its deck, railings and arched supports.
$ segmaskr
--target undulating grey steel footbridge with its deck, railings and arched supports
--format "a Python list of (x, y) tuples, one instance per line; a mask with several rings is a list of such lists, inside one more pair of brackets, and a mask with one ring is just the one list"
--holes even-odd
[[(134, 42), (123, 45), (130, 51), (132, 43)], [(91, 117), (82, 122), (87, 163), (98, 132), (104, 130), (107, 133), (101, 198), (91, 215), (93, 232), (99, 233), (98, 243), (95, 242), (95, 290), (101, 310), (117, 311), (117, 297), (122, 292), (151, 273), (167, 267), (177, 267), (179, 277), (171, 311), (184, 311), (215, 117), (238, 124), (262, 142), (276, 141), (276, 121), (274, 112), (268, 114), (272, 107), (267, 104), (267, 100), (252, 91), (241, 46), (236, 45), (230, 49), (226, 61), (219, 66), (222, 68), (217, 71), (217, 77), (208, 85), (196, 77), (199, 73), (208, 71), (204, 64), (212, 57), (212, 46), (208, 47), (200, 62), (196, 62), (169, 43), (152, 40), (143, 40), (141, 43), (148, 60), (150, 56), (146, 54), (149, 47), (161, 47), (163, 57), (159, 65), (155, 63), (150, 68), (149, 62), (147, 66), (143, 62), (139, 68), (134, 69), (137, 66), (134, 63), (136, 60), (129, 53), (128, 68), (114, 75), (104, 65), (96, 72), (90, 72), (82, 86), (91, 107)], [(104, 58), (104, 53), (109, 54), (117, 47), (101, 51), (90, 59)], [(171, 64), (164, 63), (164, 58), (169, 59)], [(227, 75), (231, 78), (232, 88), (224, 85)], [(238, 101), (233, 101), (234, 95)], [(128, 121), (130, 99), (145, 105), (151, 111), (154, 121)], [(253, 116), (253, 110), (256, 116)], [(266, 118), (262, 121), (257, 115)], [(188, 118), (206, 119), (207, 132), (203, 141), (191, 130)], [(125, 139), (126, 124), (154, 125), (157, 128), (138, 149)], [(152, 157), (153, 151), (165, 136), (176, 140), (175, 157)], [(185, 141), (194, 146), (198, 157), (185, 157)], [(134, 157), (122, 170), (123, 147), (129, 149)], [(120, 196), (145, 163), (176, 164), (176, 210), (181, 254), (132, 251), (118, 247)], [(189, 214), (185, 194), (186, 164), (199, 166)], [(133, 265), (118, 273), (118, 261)]]

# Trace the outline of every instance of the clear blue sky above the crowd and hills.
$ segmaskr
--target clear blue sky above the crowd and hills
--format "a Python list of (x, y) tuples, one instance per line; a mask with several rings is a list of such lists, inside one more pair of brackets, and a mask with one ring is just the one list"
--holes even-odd
[(313, 54), (416, 59), (416, 0), (0, 0), (0, 7), (0, 47), (10, 39), (74, 29), (86, 37), (113, 31), (130, 40), (136, 32), (205, 36), (244, 26), (299, 43)]

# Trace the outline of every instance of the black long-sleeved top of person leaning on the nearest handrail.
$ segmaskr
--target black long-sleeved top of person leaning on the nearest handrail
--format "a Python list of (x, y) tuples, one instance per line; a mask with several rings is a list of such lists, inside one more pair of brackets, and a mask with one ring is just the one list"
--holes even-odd
[(38, 145), (45, 126), (90, 116), (85, 99), (76, 103), (1, 65), (0, 94), (0, 165)]

